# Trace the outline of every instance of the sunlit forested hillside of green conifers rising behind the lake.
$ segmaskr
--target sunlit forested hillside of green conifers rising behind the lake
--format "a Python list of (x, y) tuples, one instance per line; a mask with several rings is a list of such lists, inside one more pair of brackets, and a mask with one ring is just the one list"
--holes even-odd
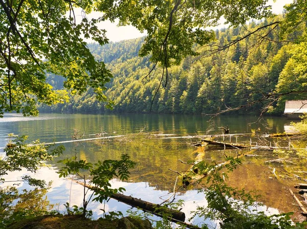
[[(144, 38), (109, 43), (103, 47), (98, 43), (89, 44), (95, 58), (104, 61), (114, 76), (106, 84), (105, 96), (114, 101), (113, 111), (107, 112), (149, 112), (151, 108), (152, 112), (159, 113), (215, 113), (257, 101), (268, 93), (306, 89), (306, 75), (302, 74), (307, 68), (305, 43), (292, 42), (301, 35), (299, 30), (281, 38), (278, 28), (272, 30), (268, 27), (240, 39), (255, 31), (256, 27), (278, 20), (278, 17), (282, 15), (259, 24), (251, 22), (239, 28), (215, 31), (215, 43), (195, 46), (199, 55), (187, 57), (179, 66), (169, 68), (168, 82), (164, 77), (158, 91), (162, 68), (155, 68), (148, 75), (153, 64), (150, 64), (149, 57), (138, 56)], [(227, 45), (229, 43), (233, 45)], [(49, 77), (58, 88), (61, 78)], [(40, 110), (106, 111), (104, 104), (93, 95), (92, 89), (82, 95), (70, 94), (70, 102), (40, 107)], [(268, 113), (280, 114), (284, 100), (301, 96), (291, 94), (279, 98), (278, 102), (269, 104)], [(261, 101), (232, 112), (259, 114), (269, 102)]]

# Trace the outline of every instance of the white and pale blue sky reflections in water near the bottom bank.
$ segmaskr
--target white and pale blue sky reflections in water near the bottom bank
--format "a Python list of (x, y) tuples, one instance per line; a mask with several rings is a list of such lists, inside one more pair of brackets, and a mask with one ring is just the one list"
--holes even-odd
[[(83, 187), (75, 182), (72, 182), (69, 179), (58, 178), (58, 174), (56, 173), (57, 169), (54, 167), (43, 167), (37, 173), (31, 174), (26, 170), (22, 170), (21, 172), (12, 172), (9, 175), (5, 176), (6, 180), (16, 180), (16, 178), (20, 178), (22, 175), (32, 175), (33, 178), (45, 179), (48, 183), (52, 182), (51, 189), (48, 193), (48, 199), (50, 204), (59, 204), (59, 207), (55, 207), (56, 210), (60, 212), (65, 212), (64, 203), (70, 202), (70, 206), (78, 205), (78, 207), (82, 206), (83, 202)], [(5, 183), (5, 185), (18, 184), (19, 182)], [(0, 187), (4, 187), (4, 184), (0, 185)], [(124, 192), (127, 196), (133, 196), (136, 198), (140, 198), (145, 201), (149, 201), (152, 203), (162, 203), (164, 199), (167, 199), (172, 193), (168, 191), (156, 190), (153, 187), (148, 186), (146, 182), (137, 182), (137, 183), (128, 183), (121, 182), (113, 179), (111, 181), (112, 188), (123, 187), (126, 189)], [(20, 182), (18, 186), (19, 190), (23, 189), (31, 189), (28, 184)], [(176, 200), (182, 199), (184, 200), (182, 212), (186, 215), (186, 222), (188, 219), (193, 216), (191, 211), (195, 211), (197, 207), (206, 207), (207, 201), (205, 199), (205, 195), (203, 193), (198, 193), (197, 190), (186, 191), (185, 193), (181, 193), (177, 195)], [(106, 203), (99, 202), (90, 202), (87, 209), (93, 211), (94, 218), (99, 218), (102, 216), (103, 212), (100, 209), (105, 209), (106, 212), (109, 211), (120, 211), (123, 214), (130, 209), (129, 205), (126, 205), (122, 202), (119, 202), (114, 199), (110, 199)], [(258, 211), (264, 211), (269, 215), (277, 214), (278, 210), (273, 208), (267, 208), (266, 206), (258, 207)], [(154, 219), (157, 219), (154, 217)], [(204, 220), (199, 217), (195, 217), (190, 222), (192, 224), (201, 224), (206, 223), (213, 228), (216, 226), (214, 221)]]

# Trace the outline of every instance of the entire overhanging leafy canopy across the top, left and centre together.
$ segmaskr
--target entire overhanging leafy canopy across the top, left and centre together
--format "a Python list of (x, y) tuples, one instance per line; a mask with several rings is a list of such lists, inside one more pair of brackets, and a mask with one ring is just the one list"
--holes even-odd
[[(112, 74), (95, 60), (84, 41), (92, 38), (100, 45), (107, 43), (106, 31), (96, 25), (99, 21), (118, 18), (119, 25), (146, 31), (140, 55), (150, 54), (154, 66), (161, 63), (167, 76), (167, 67), (196, 55), (195, 43), (213, 40), (214, 32), (207, 27), (217, 25), (220, 18), (235, 26), (271, 14), (267, 0), (0, 0), (0, 4), (0, 112), (25, 115), (37, 114), (37, 101), (54, 104), (68, 99), (65, 91), (54, 90), (46, 82), (46, 73), (63, 76), (65, 88), (72, 93), (90, 86), (99, 100), (107, 101), (104, 84)], [(76, 8), (83, 12), (80, 23)], [(101, 16), (88, 19), (86, 14), (92, 11)]]

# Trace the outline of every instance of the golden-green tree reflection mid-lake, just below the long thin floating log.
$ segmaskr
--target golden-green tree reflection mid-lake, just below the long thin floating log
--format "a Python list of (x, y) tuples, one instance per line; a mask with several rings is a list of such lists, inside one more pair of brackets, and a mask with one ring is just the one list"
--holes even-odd
[(159, 190), (172, 190), (176, 176), (168, 168), (185, 171), (189, 166), (179, 162), (179, 159), (188, 161), (193, 159), (192, 147), (186, 147), (174, 140), (148, 140), (144, 136), (136, 141), (105, 142), (99, 141), (87, 144), (86, 155), (88, 162), (103, 161), (104, 159), (119, 159), (122, 154), (129, 154), (137, 162), (132, 169), (130, 180), (134, 182), (145, 181)]

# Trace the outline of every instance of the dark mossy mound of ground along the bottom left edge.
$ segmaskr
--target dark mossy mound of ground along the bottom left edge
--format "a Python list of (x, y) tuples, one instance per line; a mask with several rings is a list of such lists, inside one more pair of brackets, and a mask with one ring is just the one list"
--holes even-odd
[[(144, 222), (142, 220), (137, 220), (131, 217), (126, 217), (134, 226), (131, 228), (152, 228), (150, 222)], [(38, 216), (35, 218), (23, 219), (17, 222), (13, 222), (9, 225), (9, 229), (83, 229), (83, 228), (95, 228), (95, 229), (115, 229), (119, 228), (118, 224), (122, 219), (107, 220), (90, 220), (83, 218), (81, 216), (62, 216), (62, 215), (48, 215), (48, 216)]]

